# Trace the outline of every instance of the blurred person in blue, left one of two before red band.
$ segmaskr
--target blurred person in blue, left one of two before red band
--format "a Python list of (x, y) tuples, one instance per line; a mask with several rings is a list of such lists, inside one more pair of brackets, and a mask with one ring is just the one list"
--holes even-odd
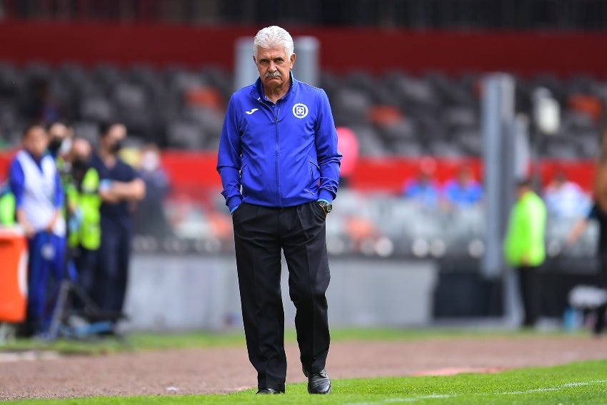
[(436, 161), (422, 159), (415, 178), (408, 179), (403, 187), (403, 197), (414, 201), (422, 208), (433, 209), (438, 206), (440, 187), (433, 178)]

